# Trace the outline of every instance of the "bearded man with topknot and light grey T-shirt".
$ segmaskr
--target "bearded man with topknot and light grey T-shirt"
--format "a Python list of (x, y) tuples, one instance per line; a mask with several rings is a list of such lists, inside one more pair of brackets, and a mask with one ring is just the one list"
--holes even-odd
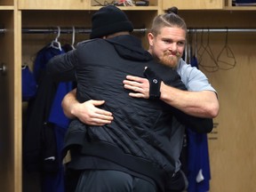
[[(185, 49), (187, 28), (186, 26), (179, 27), (173, 21), (175, 20), (174, 18), (171, 20), (168, 17), (169, 13), (165, 13), (164, 15), (156, 16), (153, 21), (152, 28), (148, 33), (148, 52), (161, 63), (168, 63), (167, 65), (175, 68), (183, 84), (191, 92), (184, 92), (172, 86), (166, 86), (162, 82), (160, 100), (174, 108), (179, 108), (189, 115), (216, 117), (219, 113), (219, 101), (216, 91), (200, 70), (192, 68), (181, 59)], [(179, 16), (177, 15), (177, 17)], [(146, 78), (127, 76), (127, 80), (124, 81), (124, 87), (136, 92), (130, 93), (132, 97), (149, 98), (149, 84)], [(82, 111), (79, 111), (79, 114), (83, 119)], [(97, 120), (99, 121), (99, 119)]]

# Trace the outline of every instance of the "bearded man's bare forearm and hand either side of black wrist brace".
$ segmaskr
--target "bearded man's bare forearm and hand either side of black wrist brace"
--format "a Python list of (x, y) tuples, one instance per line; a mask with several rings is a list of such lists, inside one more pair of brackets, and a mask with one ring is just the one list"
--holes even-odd
[[(170, 75), (171, 76), (171, 75)], [(195, 81), (194, 79), (192, 81)], [(149, 82), (140, 76), (126, 76), (124, 88), (130, 90), (129, 95), (134, 98), (149, 98)], [(179, 108), (191, 116), (214, 118), (219, 113), (219, 101), (216, 92), (212, 91), (184, 91), (164, 81), (160, 85), (160, 100), (173, 108)]]

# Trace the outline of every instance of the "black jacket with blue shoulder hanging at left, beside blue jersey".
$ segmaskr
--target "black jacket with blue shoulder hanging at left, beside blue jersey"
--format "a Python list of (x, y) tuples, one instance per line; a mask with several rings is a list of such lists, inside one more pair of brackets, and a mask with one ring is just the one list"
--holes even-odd
[[(23, 162), (28, 172), (56, 172), (56, 162), (44, 159), (56, 156), (56, 141), (48, 116), (58, 84), (45, 72), (45, 65), (53, 56), (63, 53), (47, 45), (37, 52), (34, 63), (36, 96), (28, 101), (27, 123), (23, 127)], [(58, 167), (58, 166), (57, 166)]]

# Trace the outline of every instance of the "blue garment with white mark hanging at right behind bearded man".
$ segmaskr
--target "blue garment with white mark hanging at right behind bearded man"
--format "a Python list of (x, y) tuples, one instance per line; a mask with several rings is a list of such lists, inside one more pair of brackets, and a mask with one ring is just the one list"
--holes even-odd
[[(191, 58), (191, 66), (198, 68), (196, 56)], [(207, 192), (211, 180), (207, 134), (187, 129), (187, 139), (188, 192)]]

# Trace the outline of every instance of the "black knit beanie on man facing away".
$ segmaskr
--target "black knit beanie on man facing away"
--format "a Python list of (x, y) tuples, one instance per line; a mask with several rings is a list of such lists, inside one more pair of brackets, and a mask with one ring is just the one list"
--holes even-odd
[(100, 8), (92, 15), (92, 33), (90, 38), (108, 36), (116, 32), (132, 32), (132, 22), (126, 14), (114, 5)]

